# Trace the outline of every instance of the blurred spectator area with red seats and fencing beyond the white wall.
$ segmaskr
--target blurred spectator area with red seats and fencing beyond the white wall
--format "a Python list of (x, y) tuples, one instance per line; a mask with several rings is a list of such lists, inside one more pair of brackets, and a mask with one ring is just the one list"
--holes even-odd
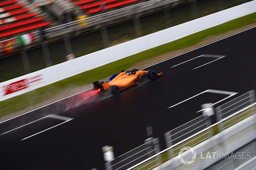
[(2, 0), (0, 82), (250, 0)]

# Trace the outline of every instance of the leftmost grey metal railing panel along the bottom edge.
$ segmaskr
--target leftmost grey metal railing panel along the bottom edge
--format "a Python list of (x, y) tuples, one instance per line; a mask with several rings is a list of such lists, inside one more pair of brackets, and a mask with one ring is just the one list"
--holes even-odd
[[(107, 170), (124, 170), (128, 169), (137, 163), (156, 155), (160, 152), (158, 138), (151, 138), (148, 142), (139, 147), (105, 163)], [(160, 159), (156, 158), (152, 160), (149, 164), (155, 166), (160, 165)]]

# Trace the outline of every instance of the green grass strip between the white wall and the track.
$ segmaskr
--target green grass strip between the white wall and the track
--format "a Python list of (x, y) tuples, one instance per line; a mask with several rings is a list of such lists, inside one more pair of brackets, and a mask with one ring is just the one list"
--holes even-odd
[(22, 109), (38, 104), (44, 100), (50, 99), (54, 95), (61, 93), (64, 90), (90, 84), (93, 81), (100, 80), (116, 74), (120, 70), (126, 70), (128, 68), (131, 68), (135, 63), (138, 63), (140, 61), (147, 60), (170, 51), (193, 46), (201, 42), (204, 38), (211, 35), (226, 33), (228, 31), (232, 31), (243, 26), (255, 23), (255, 18), (256, 12), (241, 18), (231, 20), (219, 26), (215, 26), (204, 31), (194, 33), (179, 40), (148, 49), (146, 51), (126, 57), (113, 63), (106, 64), (93, 70), (83, 72), (76, 76), (66, 78), (59, 82), (41, 87), (31, 92), (27, 92), (20, 96), (4, 100), (0, 102), (0, 117), (15, 113)]

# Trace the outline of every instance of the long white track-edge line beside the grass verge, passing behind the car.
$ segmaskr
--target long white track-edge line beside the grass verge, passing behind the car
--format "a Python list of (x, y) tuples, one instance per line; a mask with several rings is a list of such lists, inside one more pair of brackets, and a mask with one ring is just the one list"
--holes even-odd
[[(255, 27), (256, 27), (256, 26), (253, 26), (252, 28), (255, 28)], [(244, 31), (250, 30), (250, 29), (252, 29), (252, 28), (248, 28), (248, 29), (243, 30), (243, 31), (238, 32), (238, 33), (242, 33), (242, 32), (244, 32)], [(229, 35), (229, 36), (224, 37), (224, 38), (222, 38), (222, 39), (220, 39), (220, 40), (226, 39), (226, 38), (231, 37), (231, 36), (233, 36), (233, 35), (236, 35), (236, 34), (238, 34), (238, 33), (235, 33), (235, 34)], [(161, 62), (158, 62), (158, 63), (152, 64), (152, 65), (150, 65), (150, 66), (144, 67), (144, 68), (142, 68), (142, 69), (140, 69), (140, 70), (146, 69), (146, 68), (151, 67), (151, 66), (153, 66), (153, 65), (156, 65), (156, 64), (162, 63), (162, 62), (164, 62), (164, 61), (170, 60), (170, 59), (172, 59), (172, 58), (178, 57), (178, 56), (180, 56), (180, 55), (186, 54), (186, 53), (188, 53), (188, 52), (194, 51), (194, 50), (196, 50), (196, 49), (199, 49), (199, 48), (201, 48), (201, 47), (204, 47), (204, 46), (210, 45), (210, 44), (212, 44), (212, 43), (214, 43), (214, 42), (217, 42), (217, 41), (220, 41), (220, 40), (213, 41), (213, 42), (211, 42), (211, 43), (208, 43), (208, 44), (205, 44), (205, 45), (203, 45), (203, 46), (197, 47), (197, 48), (195, 48), (195, 49), (189, 50), (189, 51), (184, 52), (184, 53), (182, 53), (182, 54), (179, 54), (179, 55), (173, 56), (173, 57), (168, 58), (168, 59), (166, 59), (166, 60), (163, 60), (163, 61), (161, 61)], [(93, 88), (93, 87), (92, 87), (92, 88)], [(90, 90), (90, 89), (92, 89), (92, 88), (86, 89), (86, 90), (84, 90), (84, 91), (82, 91), (82, 92), (85, 92), (85, 91)], [(79, 93), (82, 93), (82, 92), (78, 92), (78, 93), (76, 93), (76, 94), (79, 94)], [(37, 109), (43, 108), (43, 107), (45, 107), (45, 106), (49, 106), (49, 105), (51, 105), (51, 104), (53, 104), (53, 103), (59, 102), (59, 101), (64, 100), (64, 99), (67, 99), (67, 98), (72, 97), (72, 96), (74, 96), (74, 95), (76, 95), (76, 94), (73, 94), (73, 95), (68, 96), (68, 97), (65, 97), (65, 98), (63, 98), (63, 99), (60, 99), (60, 100), (54, 101), (54, 102), (52, 102), (52, 103), (49, 103), (49, 104), (47, 104), (47, 105), (44, 105), (44, 106), (38, 107), (38, 108), (36, 108), (36, 109), (30, 110), (30, 111), (28, 111), (28, 112), (26, 112), (26, 113), (23, 113), (23, 114), (21, 114), (21, 115), (25, 115), (25, 114), (30, 113), (30, 112), (33, 112), (33, 111), (35, 111), (35, 110), (37, 110)], [(12, 117), (12, 118), (7, 119), (7, 120), (5, 120), (5, 121), (2, 121), (2, 122), (0, 122), (0, 123), (3, 123), (3, 122), (6, 122), (6, 121), (9, 121), (9, 120), (14, 119), (14, 118), (16, 118), (16, 117), (19, 117), (19, 116), (21, 116), (21, 115), (17, 115), (17, 116), (15, 116), (15, 117)]]

